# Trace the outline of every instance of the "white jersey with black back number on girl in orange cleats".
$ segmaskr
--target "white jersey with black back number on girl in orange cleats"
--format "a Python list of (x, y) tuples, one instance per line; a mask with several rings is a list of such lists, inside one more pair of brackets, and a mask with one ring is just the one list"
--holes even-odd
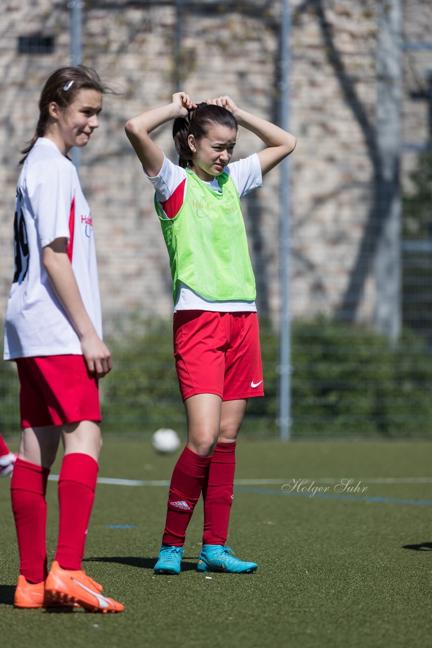
[(102, 338), (93, 223), (73, 163), (40, 137), (17, 184), (15, 273), (6, 310), (4, 359), (82, 354), (80, 340), (47, 275), (42, 249), (67, 238), (85, 310)]

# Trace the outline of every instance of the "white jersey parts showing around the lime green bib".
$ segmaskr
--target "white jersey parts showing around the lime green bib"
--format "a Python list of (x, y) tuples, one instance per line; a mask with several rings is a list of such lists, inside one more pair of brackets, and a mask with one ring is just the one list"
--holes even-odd
[[(225, 173), (231, 176), (240, 198), (262, 186), (260, 160), (256, 153), (225, 167)], [(144, 169), (145, 172), (145, 169)], [(163, 161), (159, 176), (147, 178), (156, 191), (156, 200), (163, 209), (166, 218), (174, 218), (181, 209), (187, 189), (187, 172), (173, 164), (167, 157)], [(220, 191), (217, 176), (207, 182), (213, 191)], [(181, 216), (180, 216), (181, 218)], [(212, 312), (256, 312), (255, 301), (214, 301), (205, 299), (183, 283), (177, 292), (174, 312), (177, 310), (210, 310)]]

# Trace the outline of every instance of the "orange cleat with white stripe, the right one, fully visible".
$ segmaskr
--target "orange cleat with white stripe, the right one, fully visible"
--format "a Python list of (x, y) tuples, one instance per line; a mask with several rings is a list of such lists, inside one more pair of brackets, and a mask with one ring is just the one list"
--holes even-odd
[(77, 603), (89, 612), (122, 612), (124, 607), (113, 599), (102, 596), (102, 586), (83, 570), (65, 570), (57, 561), (45, 581), (44, 605), (65, 605)]

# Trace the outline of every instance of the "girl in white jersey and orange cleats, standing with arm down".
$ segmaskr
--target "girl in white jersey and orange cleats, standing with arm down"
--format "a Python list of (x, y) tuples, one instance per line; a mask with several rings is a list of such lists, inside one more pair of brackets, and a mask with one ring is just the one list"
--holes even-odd
[[(10, 486), (20, 608), (123, 609), (81, 567), (102, 445), (98, 378), (112, 362), (102, 341), (93, 220), (67, 154), (98, 128), (104, 90), (95, 71), (81, 65), (52, 73), (20, 162), (4, 352), (16, 362), (21, 386), (21, 445)], [(48, 573), (45, 492), (60, 439), (58, 545)]]

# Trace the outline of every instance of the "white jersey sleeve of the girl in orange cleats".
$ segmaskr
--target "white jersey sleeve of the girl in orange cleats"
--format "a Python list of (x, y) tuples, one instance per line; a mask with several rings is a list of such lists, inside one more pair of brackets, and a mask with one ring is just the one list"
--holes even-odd
[(56, 159), (38, 162), (28, 173), (28, 199), (43, 248), (56, 238), (69, 240), (73, 172), (72, 165), (59, 164)]

